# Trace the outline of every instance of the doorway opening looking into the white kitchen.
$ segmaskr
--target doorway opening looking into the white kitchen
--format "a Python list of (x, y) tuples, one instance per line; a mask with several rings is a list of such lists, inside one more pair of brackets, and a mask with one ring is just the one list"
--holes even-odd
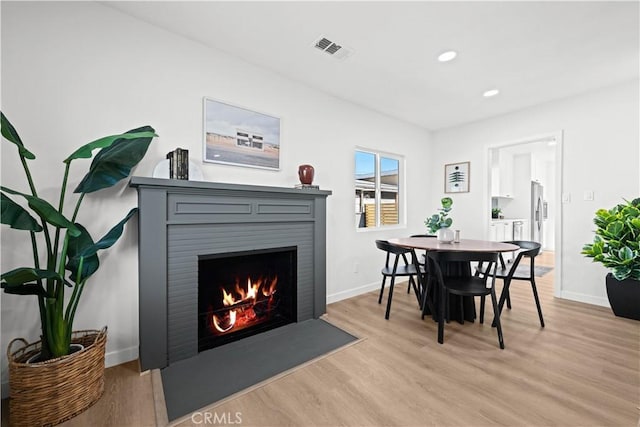
[(561, 294), (562, 132), (491, 145), (488, 158), (489, 240), (542, 245), (536, 265), (553, 271)]

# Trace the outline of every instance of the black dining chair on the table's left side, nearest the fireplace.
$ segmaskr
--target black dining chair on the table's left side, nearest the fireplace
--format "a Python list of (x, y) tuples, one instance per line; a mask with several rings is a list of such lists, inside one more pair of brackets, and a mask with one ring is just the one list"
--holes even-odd
[[(387, 297), (387, 311), (384, 315), (385, 319), (389, 319), (389, 312), (391, 311), (391, 300), (393, 298), (393, 286), (396, 281), (396, 277), (408, 277), (409, 288), (413, 286), (413, 290), (416, 293), (418, 302), (422, 300), (422, 290), (420, 289), (421, 278), (418, 277), (421, 271), (424, 271), (418, 265), (416, 254), (413, 249), (403, 248), (401, 246), (393, 245), (386, 240), (376, 240), (376, 247), (382, 251), (385, 251), (387, 256), (384, 267), (381, 270), (382, 273), (382, 286), (380, 287), (380, 296), (378, 296), (378, 304), (382, 303), (382, 295), (384, 294), (384, 285), (387, 277), (391, 278), (389, 284), (389, 296)], [(394, 256), (393, 265), (391, 264), (391, 256)], [(411, 261), (407, 259), (407, 255), (411, 258)], [(402, 262), (400, 262), (402, 260)]]

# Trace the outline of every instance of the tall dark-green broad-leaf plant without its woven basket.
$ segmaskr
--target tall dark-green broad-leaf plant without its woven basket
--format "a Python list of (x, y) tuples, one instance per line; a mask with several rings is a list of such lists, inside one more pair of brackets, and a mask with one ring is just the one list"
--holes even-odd
[[(87, 229), (76, 222), (85, 195), (112, 187), (129, 176), (144, 157), (155, 135), (150, 126), (124, 134), (97, 139), (83, 145), (63, 163), (64, 176), (57, 207), (38, 196), (29, 161), (36, 156), (29, 151), (13, 125), (0, 112), (2, 136), (16, 145), (30, 193), (1, 186), (2, 223), (29, 233), (33, 266), (19, 267), (0, 276), (0, 287), (8, 294), (35, 295), (38, 299), (42, 327), (41, 359), (69, 354), (73, 320), (87, 279), (99, 267), (98, 251), (111, 247), (122, 235), (124, 225), (136, 213), (129, 213), (101, 239), (94, 241)], [(93, 157), (94, 150), (100, 150)], [(78, 184), (78, 194), (71, 217), (63, 213), (67, 179), (71, 162), (93, 157), (89, 171)], [(9, 195), (14, 196), (18, 203)], [(22, 205), (26, 204), (26, 208)], [(71, 296), (65, 306), (65, 288)]]

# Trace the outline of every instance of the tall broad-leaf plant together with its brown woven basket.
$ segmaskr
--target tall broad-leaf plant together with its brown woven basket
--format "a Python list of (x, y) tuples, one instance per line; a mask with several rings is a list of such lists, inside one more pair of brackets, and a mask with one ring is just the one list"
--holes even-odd
[[(29, 163), (35, 155), (1, 112), (0, 121), (3, 139), (17, 148), (29, 188), (23, 193), (0, 187), (2, 224), (24, 233), (33, 252), (33, 265), (2, 273), (0, 287), (7, 294), (34, 296), (41, 327), (40, 341), (28, 344), (19, 338), (7, 350), (10, 423), (54, 425), (91, 406), (104, 390), (106, 327), (73, 331), (73, 321), (87, 280), (98, 270), (98, 251), (120, 238), (137, 208), (97, 241), (76, 222), (78, 210), (85, 196), (127, 178), (156, 135), (153, 128), (144, 126), (97, 139), (74, 151), (63, 161), (56, 206), (41, 198), (33, 181)], [(99, 151), (93, 156), (95, 150)], [(88, 172), (74, 190), (75, 203), (65, 205), (71, 163), (92, 157)], [(22, 347), (14, 349), (16, 343)], [(74, 343), (81, 345), (79, 350), (72, 350)]]

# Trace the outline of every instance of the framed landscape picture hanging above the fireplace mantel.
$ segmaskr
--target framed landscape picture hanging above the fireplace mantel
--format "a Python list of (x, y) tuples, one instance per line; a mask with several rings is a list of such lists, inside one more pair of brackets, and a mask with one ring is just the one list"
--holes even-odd
[(205, 162), (280, 169), (280, 119), (204, 98)]

